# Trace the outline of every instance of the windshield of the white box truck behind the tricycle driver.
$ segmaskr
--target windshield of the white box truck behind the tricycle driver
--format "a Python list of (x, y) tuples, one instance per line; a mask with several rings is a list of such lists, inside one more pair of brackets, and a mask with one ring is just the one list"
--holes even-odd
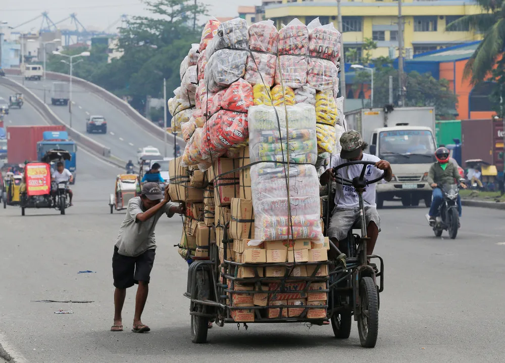
[(379, 133), (379, 158), (391, 164), (434, 162), (435, 144), (429, 130), (391, 130)]

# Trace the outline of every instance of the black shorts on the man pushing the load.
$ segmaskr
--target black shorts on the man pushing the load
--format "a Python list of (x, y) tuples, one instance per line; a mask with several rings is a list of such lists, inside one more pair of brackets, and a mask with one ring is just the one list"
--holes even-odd
[(145, 251), (139, 256), (123, 256), (118, 253), (118, 248), (114, 246), (112, 256), (112, 275), (114, 276), (114, 286), (118, 289), (127, 289), (139, 281), (149, 283), (149, 275), (153, 269), (155, 261), (155, 249)]

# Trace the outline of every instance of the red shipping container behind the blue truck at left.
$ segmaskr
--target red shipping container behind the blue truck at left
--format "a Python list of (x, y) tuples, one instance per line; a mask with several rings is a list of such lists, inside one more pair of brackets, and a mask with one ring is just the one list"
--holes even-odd
[(7, 126), (7, 160), (21, 164), (37, 160), (37, 142), (44, 131), (65, 131), (65, 126)]

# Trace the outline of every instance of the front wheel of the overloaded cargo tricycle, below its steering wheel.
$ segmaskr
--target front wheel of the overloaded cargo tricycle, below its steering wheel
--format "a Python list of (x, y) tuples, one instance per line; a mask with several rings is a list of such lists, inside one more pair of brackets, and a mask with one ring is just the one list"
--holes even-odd
[(379, 333), (379, 300), (377, 287), (371, 277), (360, 280), (360, 313), (358, 315), (358, 332), (361, 345), (373, 348)]

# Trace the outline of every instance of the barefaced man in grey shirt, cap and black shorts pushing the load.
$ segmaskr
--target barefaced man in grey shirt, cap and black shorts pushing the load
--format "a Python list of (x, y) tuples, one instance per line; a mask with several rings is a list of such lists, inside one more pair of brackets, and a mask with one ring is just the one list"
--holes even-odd
[(140, 316), (147, 300), (149, 275), (155, 260), (155, 227), (164, 213), (169, 218), (175, 213), (184, 213), (183, 206), (170, 202), (168, 186), (163, 194), (157, 183), (145, 183), (141, 195), (128, 202), (126, 216), (119, 228), (112, 257), (112, 274), (116, 288), (112, 332), (123, 331), (121, 312), (126, 289), (134, 284), (138, 284), (138, 288), (132, 332), (146, 333), (150, 330), (147, 325), (142, 324)]

